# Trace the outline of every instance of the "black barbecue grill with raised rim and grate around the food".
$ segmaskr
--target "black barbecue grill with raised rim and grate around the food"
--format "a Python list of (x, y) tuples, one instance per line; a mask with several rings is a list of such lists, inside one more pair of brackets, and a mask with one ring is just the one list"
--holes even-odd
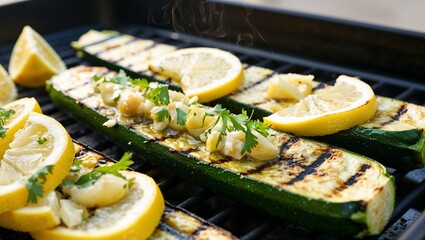
[[(75, 55), (72, 41), (91, 28), (114, 29), (178, 47), (225, 49), (242, 62), (313, 74), (326, 83), (340, 74), (358, 76), (377, 95), (425, 105), (425, 34), (229, 1), (23, 1), (0, 7), (0, 64), (5, 67), (25, 24), (45, 37), (67, 67), (89, 65)], [(61, 112), (44, 89), (19, 87), (19, 97), (35, 97), (77, 141), (114, 159), (125, 151)], [(170, 204), (241, 239), (336, 239), (217, 195), (143, 156), (135, 160), (134, 169), (152, 176)], [(396, 209), (383, 233), (370, 239), (424, 239), (425, 168), (389, 171), (396, 178)], [(0, 239), (29, 238), (0, 229)]]

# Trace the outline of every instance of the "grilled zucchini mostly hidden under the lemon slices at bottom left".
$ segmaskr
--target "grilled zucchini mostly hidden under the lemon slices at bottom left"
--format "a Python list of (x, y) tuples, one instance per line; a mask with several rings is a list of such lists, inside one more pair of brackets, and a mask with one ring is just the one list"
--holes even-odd
[[(94, 167), (111, 162), (110, 158), (85, 144), (74, 141), (75, 160), (81, 160), (84, 167)], [(228, 231), (166, 203), (164, 214), (156, 230), (149, 237), (155, 239), (236, 239)]]

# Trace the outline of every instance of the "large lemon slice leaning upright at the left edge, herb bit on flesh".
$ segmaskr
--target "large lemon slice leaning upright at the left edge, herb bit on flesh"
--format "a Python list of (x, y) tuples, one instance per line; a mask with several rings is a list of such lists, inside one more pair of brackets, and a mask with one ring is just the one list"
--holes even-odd
[(0, 214), (27, 204), (30, 177), (53, 166), (45, 177), (43, 193), (55, 189), (68, 174), (74, 159), (74, 145), (60, 123), (32, 112), (25, 126), (15, 133), (0, 165)]

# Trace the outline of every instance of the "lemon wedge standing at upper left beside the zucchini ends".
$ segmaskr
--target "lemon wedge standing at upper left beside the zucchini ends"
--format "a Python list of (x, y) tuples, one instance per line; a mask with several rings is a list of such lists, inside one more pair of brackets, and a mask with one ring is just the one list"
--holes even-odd
[(65, 69), (53, 48), (31, 27), (25, 26), (10, 58), (12, 80), (25, 87), (41, 87), (46, 80)]

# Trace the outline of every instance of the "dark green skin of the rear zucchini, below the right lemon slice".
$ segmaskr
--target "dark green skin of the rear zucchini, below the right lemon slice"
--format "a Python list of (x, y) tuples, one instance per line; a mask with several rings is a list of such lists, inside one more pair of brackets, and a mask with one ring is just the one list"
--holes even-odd
[[(253, 118), (262, 119), (272, 112), (255, 105), (247, 105), (231, 98), (222, 98), (223, 104), (232, 112), (249, 109)], [(326, 136), (312, 137), (320, 142), (345, 148), (379, 161), (388, 167), (411, 170), (425, 166), (425, 135), (423, 129), (388, 131), (363, 126)]]

